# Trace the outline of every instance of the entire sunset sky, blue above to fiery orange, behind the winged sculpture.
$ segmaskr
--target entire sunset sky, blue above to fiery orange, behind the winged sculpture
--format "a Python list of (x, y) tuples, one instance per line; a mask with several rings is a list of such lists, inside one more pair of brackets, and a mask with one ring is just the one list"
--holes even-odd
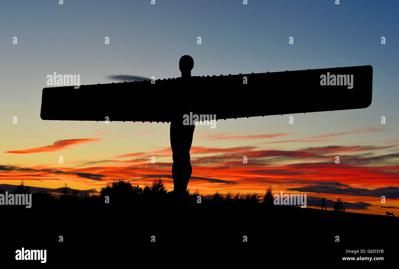
[[(264, 195), (272, 185), (277, 193), (306, 193), (311, 207), (320, 206), (312, 199), (341, 197), (347, 211), (397, 211), (398, 10), (393, 0), (2, 0), (0, 189), (21, 180), (48, 189), (67, 182), (96, 194), (113, 180), (144, 185), (162, 177), (172, 190), (168, 123), (43, 121), (41, 91), (53, 72), (80, 74), (85, 85), (120, 82), (107, 77), (119, 74), (176, 78), (179, 59), (188, 54), (193, 76), (358, 65), (374, 70), (366, 109), (293, 114), (294, 124), (288, 124), (291, 115), (277, 115), (217, 121), (215, 129), (197, 126), (191, 190)], [(262, 89), (239, 94), (263, 98), (265, 106), (273, 102)], [(212, 102), (211, 89), (201, 95), (207, 98), (199, 102)], [(168, 109), (167, 103), (152, 107), (151, 98), (149, 93), (144, 101), (148, 109)], [(331, 209), (332, 202), (326, 205)]]

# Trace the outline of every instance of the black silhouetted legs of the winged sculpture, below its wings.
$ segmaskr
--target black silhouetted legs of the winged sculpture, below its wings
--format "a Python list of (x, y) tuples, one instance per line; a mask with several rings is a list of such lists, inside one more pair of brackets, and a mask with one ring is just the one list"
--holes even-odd
[(192, 167), (190, 164), (190, 148), (193, 141), (195, 125), (183, 125), (183, 119), (170, 122), (170, 146), (172, 147), (173, 192), (176, 195), (186, 193), (190, 181)]

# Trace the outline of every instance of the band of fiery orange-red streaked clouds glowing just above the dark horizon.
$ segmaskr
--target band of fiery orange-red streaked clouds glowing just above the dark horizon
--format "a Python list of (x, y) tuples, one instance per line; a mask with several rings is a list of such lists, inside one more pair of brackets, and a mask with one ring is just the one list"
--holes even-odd
[[(374, 130), (363, 129), (366, 132)], [(394, 187), (398, 185), (399, 178), (398, 146), (327, 145), (265, 150), (259, 146), (207, 148), (194, 145), (190, 150), (193, 172), (189, 187), (192, 190), (198, 188), (203, 195), (212, 195), (215, 190), (220, 193), (230, 190), (233, 193), (256, 192), (263, 195), (265, 189), (272, 185), (277, 192), (297, 188), (295, 190), (302, 190), (309, 196), (314, 193), (315, 196), (335, 199), (338, 194), (342, 194), (351, 201), (365, 202), (363, 196), (367, 199), (378, 198), (375, 197), (376, 189), (391, 194), (399, 191)], [(340, 153), (340, 164), (334, 162), (336, 152)], [(157, 161), (154, 164), (149, 158), (171, 155), (170, 147), (158, 147), (144, 152), (114, 156), (130, 157), (128, 160), (87, 160), (84, 167), (0, 165), (0, 183), (18, 179), (37, 182), (60, 181), (61, 184), (69, 180), (90, 186), (89, 189), (94, 186), (99, 189), (103, 183), (118, 179), (143, 185), (162, 177), (165, 186), (172, 190), (172, 158), (165, 158), (162, 162)], [(248, 157), (247, 163), (243, 163), (243, 156)], [(393, 201), (399, 203), (395, 197)], [(374, 212), (370, 211), (371, 209), (367, 210)]]

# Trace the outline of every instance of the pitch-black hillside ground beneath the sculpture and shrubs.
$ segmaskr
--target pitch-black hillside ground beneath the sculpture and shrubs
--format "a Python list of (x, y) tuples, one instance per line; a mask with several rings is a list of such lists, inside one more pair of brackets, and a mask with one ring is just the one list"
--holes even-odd
[[(186, 206), (168, 200), (131, 207), (2, 206), (1, 211), (2, 265), (71, 263), (81, 267), (118, 262), (119, 268), (126, 263), (138, 267), (144, 261), (166, 266), (189, 257), (187, 267), (210, 262), (275, 267), (315, 261), (352, 267), (396, 263), (398, 254), (399, 220), (392, 216), (210, 200), (189, 201)], [(149, 244), (151, 236), (158, 244)], [(340, 242), (335, 242), (336, 236)], [(15, 251), (22, 247), (47, 250), (47, 263), (16, 261)], [(359, 256), (384, 257), (384, 261), (342, 261), (342, 257)]]

